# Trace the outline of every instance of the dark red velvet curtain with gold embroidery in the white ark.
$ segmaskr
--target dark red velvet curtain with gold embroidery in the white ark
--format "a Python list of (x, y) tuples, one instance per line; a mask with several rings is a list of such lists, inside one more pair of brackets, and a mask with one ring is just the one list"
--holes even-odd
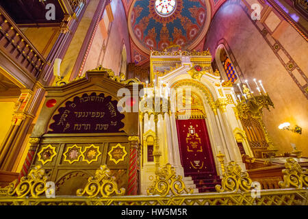
[(185, 175), (196, 173), (216, 175), (205, 120), (177, 120), (177, 136)]

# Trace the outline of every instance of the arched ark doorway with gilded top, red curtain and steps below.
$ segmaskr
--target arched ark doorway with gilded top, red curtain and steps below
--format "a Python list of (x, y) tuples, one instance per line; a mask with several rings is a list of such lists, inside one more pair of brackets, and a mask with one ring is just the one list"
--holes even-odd
[[(181, 95), (181, 94), (179, 94)], [(179, 152), (185, 177), (192, 177), (199, 192), (212, 192), (219, 181), (214, 155), (205, 123), (203, 101), (195, 92), (190, 97), (178, 98), (180, 107), (176, 113)]]

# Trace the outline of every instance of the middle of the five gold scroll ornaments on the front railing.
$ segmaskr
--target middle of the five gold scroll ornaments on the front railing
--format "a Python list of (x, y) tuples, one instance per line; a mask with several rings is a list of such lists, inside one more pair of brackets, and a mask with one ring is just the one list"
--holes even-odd
[(159, 196), (179, 196), (186, 192), (192, 194), (192, 188), (187, 189), (180, 175), (176, 175), (175, 168), (171, 164), (166, 164), (155, 174), (155, 181), (146, 190), (148, 195)]

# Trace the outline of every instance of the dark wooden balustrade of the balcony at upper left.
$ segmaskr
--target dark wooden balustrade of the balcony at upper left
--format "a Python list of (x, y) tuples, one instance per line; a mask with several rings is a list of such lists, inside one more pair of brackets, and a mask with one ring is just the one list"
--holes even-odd
[(0, 50), (32, 77), (38, 78), (47, 63), (1, 6)]

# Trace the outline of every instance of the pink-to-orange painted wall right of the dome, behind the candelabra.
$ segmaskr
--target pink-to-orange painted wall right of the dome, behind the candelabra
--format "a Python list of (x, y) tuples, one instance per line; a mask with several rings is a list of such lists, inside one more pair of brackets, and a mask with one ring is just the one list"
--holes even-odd
[[(215, 57), (218, 44), (224, 42), (234, 55), (234, 57), (231, 55), (231, 60), (238, 63), (244, 78), (249, 81), (253, 78), (263, 81), (275, 107), (270, 112), (264, 110), (264, 123), (274, 145), (279, 149), (279, 155), (292, 152), (291, 143), (294, 143), (297, 149), (303, 151), (303, 155), (308, 156), (308, 101), (299, 88), (299, 86), (303, 86), (302, 88), (307, 86), (308, 44), (286, 22), (281, 23), (273, 33), (268, 31), (267, 34), (261, 34), (257, 27), (264, 29), (262, 17), (261, 21), (257, 21), (256, 27), (251, 21), (250, 14), (246, 14), (239, 3), (236, 4), (224, 3), (218, 10), (209, 27), (204, 48), (209, 48)], [(243, 5), (242, 1), (241, 4)], [(264, 9), (267, 14), (262, 12), (262, 16), (269, 14), (268, 8), (264, 7)], [(274, 20), (267, 22), (273, 24)], [(273, 36), (281, 44), (280, 48), (284, 48), (287, 52), (286, 55), (282, 49), (279, 50), (283, 60), (279, 60), (272, 49), (275, 43)], [(305, 76), (298, 75), (298, 70), (292, 70), (292, 74), (298, 79), (300, 85), (294, 82), (285, 68), (290, 60), (294, 60), (305, 74)], [(303, 128), (303, 134), (279, 130), (279, 124), (284, 122), (291, 123), (292, 127), (299, 125)]]

